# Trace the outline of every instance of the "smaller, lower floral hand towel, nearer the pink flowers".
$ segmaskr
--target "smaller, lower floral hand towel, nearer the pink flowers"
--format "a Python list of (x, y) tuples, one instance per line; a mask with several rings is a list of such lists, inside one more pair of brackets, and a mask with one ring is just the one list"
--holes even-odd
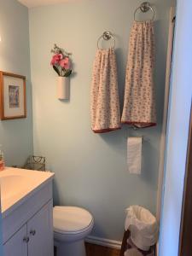
[(114, 49), (98, 49), (91, 84), (91, 129), (103, 133), (120, 129), (117, 65)]

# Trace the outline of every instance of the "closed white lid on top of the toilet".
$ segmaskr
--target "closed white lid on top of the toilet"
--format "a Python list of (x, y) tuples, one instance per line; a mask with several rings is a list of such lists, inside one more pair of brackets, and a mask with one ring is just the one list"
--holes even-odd
[(90, 226), (90, 212), (79, 207), (54, 207), (54, 231), (59, 233), (80, 232)]

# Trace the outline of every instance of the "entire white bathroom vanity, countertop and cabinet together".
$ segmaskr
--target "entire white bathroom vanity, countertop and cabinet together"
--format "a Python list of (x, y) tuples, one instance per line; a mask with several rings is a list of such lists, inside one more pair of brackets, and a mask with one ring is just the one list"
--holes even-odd
[[(9, 167), (0, 172), (4, 255), (26, 255), (27, 244), (23, 242), (26, 237), (30, 238), (30, 255), (36, 255), (33, 252), (41, 245), (38, 255), (53, 256), (48, 253), (52, 251), (53, 241), (53, 177), (51, 172)], [(37, 231), (37, 236), (36, 231), (34, 237), (29, 234), (32, 229)]]

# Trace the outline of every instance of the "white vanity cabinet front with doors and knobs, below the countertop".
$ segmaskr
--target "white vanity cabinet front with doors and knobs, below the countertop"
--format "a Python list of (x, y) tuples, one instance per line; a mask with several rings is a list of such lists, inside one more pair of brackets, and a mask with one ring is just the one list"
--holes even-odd
[(52, 178), (3, 212), (3, 256), (53, 256)]

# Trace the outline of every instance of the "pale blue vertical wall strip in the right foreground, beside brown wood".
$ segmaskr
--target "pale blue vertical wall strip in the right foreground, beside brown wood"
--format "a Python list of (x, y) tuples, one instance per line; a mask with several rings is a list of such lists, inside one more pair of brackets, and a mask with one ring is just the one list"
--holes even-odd
[[(160, 230), (160, 256), (178, 255), (183, 183), (192, 100), (191, 0), (177, 1), (176, 44), (166, 147), (166, 178)], [(187, 255), (186, 255), (187, 256)]]

